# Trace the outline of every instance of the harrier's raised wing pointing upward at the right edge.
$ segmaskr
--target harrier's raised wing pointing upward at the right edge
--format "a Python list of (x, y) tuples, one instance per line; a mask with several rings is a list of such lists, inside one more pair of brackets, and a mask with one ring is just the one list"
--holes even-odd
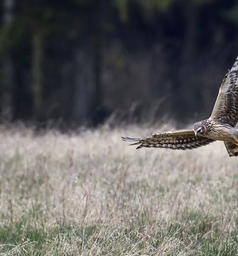
[(210, 119), (233, 127), (238, 122), (238, 57), (223, 79)]

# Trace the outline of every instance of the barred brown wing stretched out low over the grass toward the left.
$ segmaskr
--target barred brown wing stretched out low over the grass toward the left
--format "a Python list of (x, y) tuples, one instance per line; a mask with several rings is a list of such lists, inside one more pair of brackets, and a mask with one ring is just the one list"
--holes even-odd
[(147, 138), (132, 139), (123, 138), (123, 141), (136, 142), (131, 145), (140, 144), (137, 148), (169, 148), (169, 149), (193, 149), (214, 142), (213, 139), (195, 136), (193, 129), (175, 130), (173, 132), (155, 133)]

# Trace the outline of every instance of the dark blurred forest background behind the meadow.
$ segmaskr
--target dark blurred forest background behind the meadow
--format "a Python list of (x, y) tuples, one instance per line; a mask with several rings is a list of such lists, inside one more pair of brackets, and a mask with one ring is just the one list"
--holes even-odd
[(209, 117), (238, 55), (236, 0), (0, 0), (0, 121)]

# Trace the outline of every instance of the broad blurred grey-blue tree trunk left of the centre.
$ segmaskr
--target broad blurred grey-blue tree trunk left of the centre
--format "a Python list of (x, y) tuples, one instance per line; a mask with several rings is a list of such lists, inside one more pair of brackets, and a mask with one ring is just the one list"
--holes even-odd
[(87, 126), (97, 124), (104, 118), (102, 110), (101, 51), (103, 10), (107, 2), (96, 2), (92, 13), (94, 29), (89, 31), (84, 46), (76, 49), (76, 87), (74, 120)]

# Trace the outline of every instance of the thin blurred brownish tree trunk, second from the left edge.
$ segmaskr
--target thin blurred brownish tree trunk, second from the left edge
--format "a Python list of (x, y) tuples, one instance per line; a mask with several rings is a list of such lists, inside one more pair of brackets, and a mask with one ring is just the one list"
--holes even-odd
[(36, 29), (32, 35), (32, 91), (34, 98), (34, 115), (42, 119), (42, 62), (43, 62), (43, 33)]

